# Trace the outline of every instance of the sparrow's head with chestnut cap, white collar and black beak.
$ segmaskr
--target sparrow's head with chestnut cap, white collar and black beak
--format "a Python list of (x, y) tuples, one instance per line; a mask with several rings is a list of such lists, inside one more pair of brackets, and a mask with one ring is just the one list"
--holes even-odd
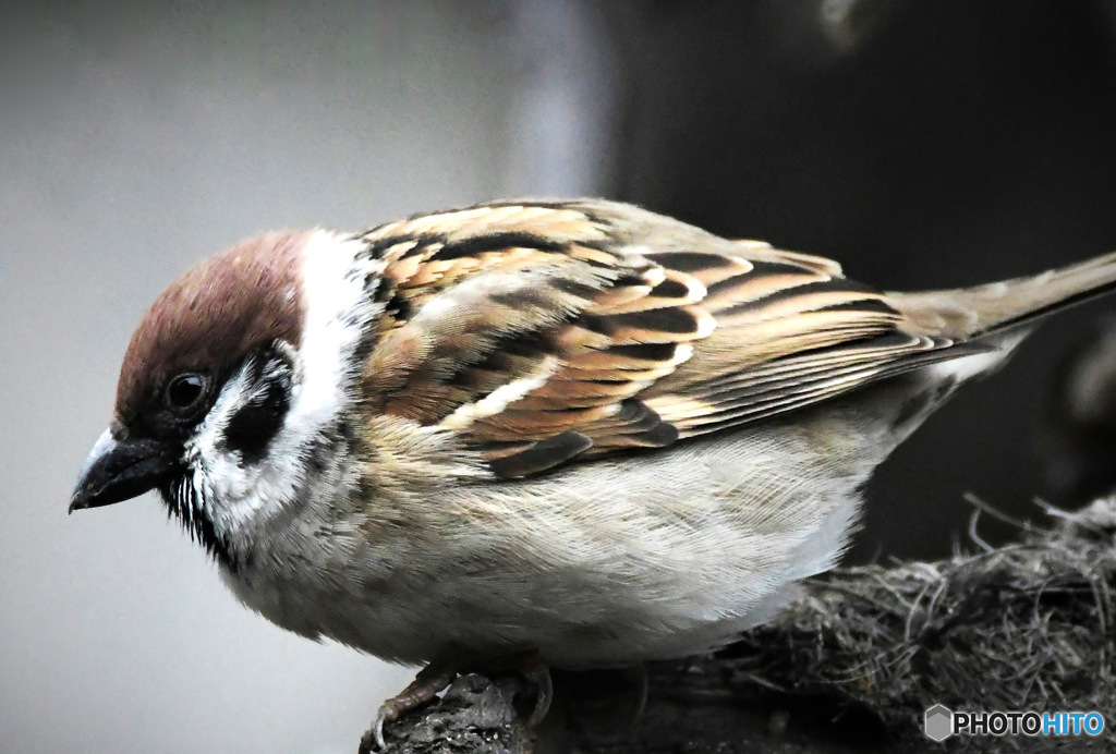
[[(128, 345), (114, 420), (70, 511), (157, 490), (219, 559), (238, 530), (329, 473), (368, 336), (367, 245), (327, 231), (268, 233), (170, 286)], [(336, 454), (334, 454), (336, 456)]]

